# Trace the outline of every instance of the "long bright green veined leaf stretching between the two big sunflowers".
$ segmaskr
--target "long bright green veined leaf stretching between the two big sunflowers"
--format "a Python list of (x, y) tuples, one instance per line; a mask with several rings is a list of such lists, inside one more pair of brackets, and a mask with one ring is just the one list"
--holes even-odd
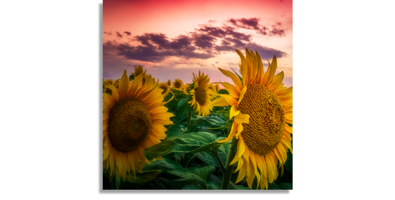
[(169, 153), (210, 151), (216, 144), (216, 138), (216, 135), (207, 132), (178, 135), (168, 137), (161, 143), (145, 149), (143, 152), (148, 160), (153, 160)]

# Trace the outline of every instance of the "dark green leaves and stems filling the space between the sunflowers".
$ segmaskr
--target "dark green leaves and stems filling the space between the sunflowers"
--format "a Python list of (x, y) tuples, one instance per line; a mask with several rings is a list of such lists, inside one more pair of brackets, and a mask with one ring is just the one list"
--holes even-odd
[[(131, 77), (132, 79), (132, 77)], [(193, 88), (193, 83), (191, 84)], [(219, 94), (229, 94), (221, 89)], [(164, 101), (168, 101), (172, 94)], [(230, 106), (214, 107), (209, 116), (197, 117), (188, 101), (192, 97), (175, 91), (174, 98), (164, 105), (168, 112), (175, 115), (170, 118), (174, 124), (166, 125), (167, 138), (158, 145), (144, 151), (151, 165), (145, 164), (142, 173), (136, 172), (136, 180), (133, 174), (128, 174), (123, 182), (117, 177), (117, 188), (121, 190), (221, 190), (222, 171), (214, 156), (218, 151), (218, 157), (226, 164), (229, 154), (229, 142), (219, 145), (215, 140), (226, 138), (229, 134), (228, 127), (232, 121), (228, 121)], [(188, 113), (192, 111), (191, 127), (187, 128)], [(289, 124), (293, 127), (293, 124)], [(215, 128), (215, 129), (211, 129)], [(292, 137), (292, 149), (294, 150), (294, 135)], [(153, 159), (162, 157), (163, 160)], [(279, 165), (277, 164), (277, 168)], [(237, 168), (237, 163), (234, 170)], [(269, 183), (268, 190), (294, 190), (294, 155), (287, 153), (284, 164), (284, 173), (279, 175), (273, 183)], [(238, 172), (231, 177), (230, 190), (250, 190), (245, 178), (237, 183)], [(129, 180), (129, 176), (132, 176)], [(253, 187), (256, 188), (256, 177)], [(103, 171), (103, 189), (111, 190), (108, 175)], [(259, 187), (260, 189), (260, 187)]]

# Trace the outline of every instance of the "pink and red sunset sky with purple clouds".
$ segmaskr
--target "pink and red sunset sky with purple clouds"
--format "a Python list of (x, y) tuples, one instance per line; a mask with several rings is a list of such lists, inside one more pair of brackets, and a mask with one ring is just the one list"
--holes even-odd
[(294, 85), (293, 0), (103, 0), (102, 34), (104, 80), (141, 65), (159, 82), (192, 83), (200, 71), (233, 84), (218, 68), (240, 75), (235, 49), (248, 48), (265, 72), (276, 56), (275, 74)]

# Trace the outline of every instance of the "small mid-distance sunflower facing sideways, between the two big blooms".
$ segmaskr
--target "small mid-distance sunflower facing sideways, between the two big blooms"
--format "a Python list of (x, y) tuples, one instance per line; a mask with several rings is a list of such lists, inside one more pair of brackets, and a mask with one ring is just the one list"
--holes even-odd
[(188, 102), (193, 108), (196, 107), (198, 115), (201, 116), (203, 114), (203, 117), (210, 115), (210, 111), (213, 110), (213, 107), (210, 106), (211, 99), (218, 96), (217, 92), (209, 88), (210, 85), (208, 83), (210, 82), (210, 78), (207, 77), (208, 75), (204, 76), (204, 73), (200, 74), (200, 71), (198, 76), (194, 74), (195, 85), (190, 91), (192, 100)]

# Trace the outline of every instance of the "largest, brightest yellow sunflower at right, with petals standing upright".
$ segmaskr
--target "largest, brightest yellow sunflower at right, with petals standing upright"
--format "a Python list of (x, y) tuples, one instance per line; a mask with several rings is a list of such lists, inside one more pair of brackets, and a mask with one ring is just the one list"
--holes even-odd
[(272, 183), (278, 176), (277, 160), (282, 175), (288, 149), (293, 154), (290, 134), (294, 133), (294, 129), (287, 123), (294, 123), (294, 87), (283, 86), (283, 72), (275, 76), (276, 56), (272, 64), (268, 61), (269, 68), (264, 73), (258, 52), (255, 55), (246, 48), (247, 55), (244, 58), (240, 51), (236, 51), (241, 58), (242, 82), (233, 73), (218, 68), (235, 83), (234, 86), (219, 82), (230, 95), (221, 94), (211, 104), (231, 105), (229, 119), (235, 117), (228, 138), (218, 142), (228, 142), (234, 136), (238, 139), (237, 153), (230, 163), (238, 161), (236, 183), (245, 175), (251, 188), (256, 176), (261, 189), (264, 189), (268, 187), (267, 178)]

